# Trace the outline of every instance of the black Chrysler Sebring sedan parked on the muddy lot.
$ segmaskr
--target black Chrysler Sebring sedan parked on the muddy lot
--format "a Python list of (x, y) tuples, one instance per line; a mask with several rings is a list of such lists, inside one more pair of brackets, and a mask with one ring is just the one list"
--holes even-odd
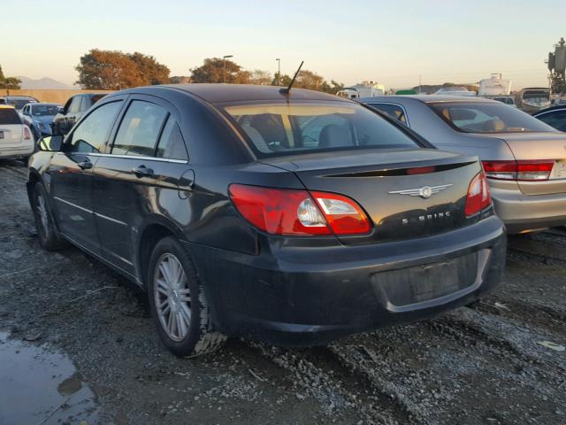
[(478, 158), (347, 99), (126, 89), (39, 148), (27, 193), (42, 247), (73, 243), (140, 285), (180, 356), (226, 336), (326, 344), (501, 282), (505, 229)]

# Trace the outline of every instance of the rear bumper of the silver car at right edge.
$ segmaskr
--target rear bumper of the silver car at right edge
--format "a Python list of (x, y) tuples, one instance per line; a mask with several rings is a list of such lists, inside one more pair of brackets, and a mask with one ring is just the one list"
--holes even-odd
[(566, 225), (566, 194), (524, 195), (520, 190), (492, 185), (495, 213), (509, 234)]

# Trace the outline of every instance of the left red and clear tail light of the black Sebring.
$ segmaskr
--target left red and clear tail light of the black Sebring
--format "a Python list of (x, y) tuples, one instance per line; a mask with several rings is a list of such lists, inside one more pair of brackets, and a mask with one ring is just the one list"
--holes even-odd
[(349, 197), (232, 184), (230, 198), (250, 224), (273, 235), (359, 235), (371, 225)]

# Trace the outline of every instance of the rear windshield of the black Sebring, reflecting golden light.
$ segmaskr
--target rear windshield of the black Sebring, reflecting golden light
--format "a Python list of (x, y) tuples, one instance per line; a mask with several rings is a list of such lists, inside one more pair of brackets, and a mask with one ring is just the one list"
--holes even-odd
[(402, 130), (359, 104), (231, 104), (225, 110), (263, 156), (418, 146)]

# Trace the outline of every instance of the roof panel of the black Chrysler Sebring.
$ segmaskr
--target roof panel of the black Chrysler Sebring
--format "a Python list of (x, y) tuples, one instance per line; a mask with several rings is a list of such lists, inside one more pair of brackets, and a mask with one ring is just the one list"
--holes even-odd
[(278, 86), (253, 86), (248, 84), (218, 84), (218, 83), (194, 83), (194, 84), (168, 84), (163, 86), (148, 86), (137, 89), (126, 89), (119, 93), (148, 93), (155, 89), (172, 89), (200, 97), (210, 104), (225, 102), (241, 102), (248, 100), (321, 100), (334, 102), (351, 102), (343, 97), (321, 93), (307, 89), (291, 89), (287, 95), (281, 93)]

